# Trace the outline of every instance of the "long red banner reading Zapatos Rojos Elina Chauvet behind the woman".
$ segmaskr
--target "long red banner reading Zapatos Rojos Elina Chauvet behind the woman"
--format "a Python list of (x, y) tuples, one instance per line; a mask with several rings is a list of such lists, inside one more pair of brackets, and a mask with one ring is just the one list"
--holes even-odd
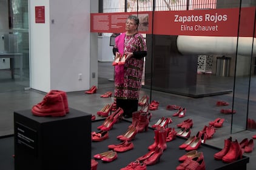
[[(238, 21), (240, 21), (239, 36), (253, 36), (255, 7), (241, 8), (241, 15), (239, 13), (239, 8), (155, 11), (154, 13), (147, 11), (138, 13), (142, 28), (141, 30), (139, 27), (139, 31), (163, 35), (238, 36)], [(92, 13), (91, 32), (124, 32), (127, 16), (130, 14)]]

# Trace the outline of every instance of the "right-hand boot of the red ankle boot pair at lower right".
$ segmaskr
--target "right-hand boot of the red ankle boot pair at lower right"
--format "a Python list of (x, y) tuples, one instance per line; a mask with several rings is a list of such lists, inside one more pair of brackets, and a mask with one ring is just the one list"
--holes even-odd
[(222, 161), (226, 163), (231, 163), (241, 158), (242, 158), (242, 150), (237, 140), (235, 140), (235, 142), (231, 142), (229, 151), (227, 152), (226, 155), (224, 155), (224, 157), (222, 158)]

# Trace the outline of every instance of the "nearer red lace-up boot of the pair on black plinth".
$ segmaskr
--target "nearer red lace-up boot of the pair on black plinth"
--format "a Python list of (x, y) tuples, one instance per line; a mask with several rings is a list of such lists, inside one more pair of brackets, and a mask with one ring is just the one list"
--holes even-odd
[(36, 116), (66, 116), (61, 94), (47, 94), (42, 102), (32, 107), (32, 113)]

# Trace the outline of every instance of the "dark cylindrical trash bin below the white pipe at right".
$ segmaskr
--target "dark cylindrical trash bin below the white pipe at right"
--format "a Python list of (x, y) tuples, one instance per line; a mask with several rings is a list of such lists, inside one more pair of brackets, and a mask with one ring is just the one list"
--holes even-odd
[(231, 57), (217, 57), (216, 75), (228, 77)]

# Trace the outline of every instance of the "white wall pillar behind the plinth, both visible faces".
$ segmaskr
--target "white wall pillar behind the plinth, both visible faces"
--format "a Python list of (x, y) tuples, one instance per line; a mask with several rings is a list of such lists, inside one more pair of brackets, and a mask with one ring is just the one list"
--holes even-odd
[[(90, 0), (30, 1), (31, 88), (45, 92), (90, 88), (89, 4)], [(41, 5), (45, 24), (35, 24), (35, 6)]]

